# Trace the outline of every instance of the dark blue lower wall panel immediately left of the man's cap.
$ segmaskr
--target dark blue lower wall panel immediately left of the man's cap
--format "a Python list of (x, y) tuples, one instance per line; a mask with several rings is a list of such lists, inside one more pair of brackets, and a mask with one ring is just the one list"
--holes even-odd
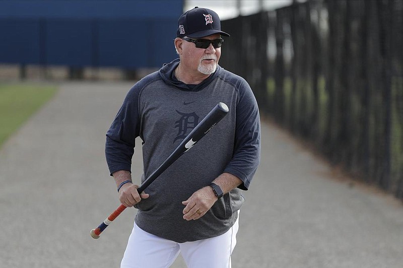
[(176, 27), (169, 20), (100, 20), (99, 65), (159, 67), (176, 58)]

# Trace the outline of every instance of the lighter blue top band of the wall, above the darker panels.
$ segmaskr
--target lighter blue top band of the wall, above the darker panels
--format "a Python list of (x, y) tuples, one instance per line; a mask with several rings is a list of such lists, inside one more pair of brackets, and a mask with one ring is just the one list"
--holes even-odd
[(1, 0), (0, 18), (171, 18), (182, 14), (183, 0)]

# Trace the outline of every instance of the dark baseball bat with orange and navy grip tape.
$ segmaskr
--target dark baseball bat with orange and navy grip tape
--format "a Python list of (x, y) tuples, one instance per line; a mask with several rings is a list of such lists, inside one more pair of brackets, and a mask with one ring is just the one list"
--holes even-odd
[[(137, 191), (143, 192), (162, 172), (164, 172), (173, 162), (175, 162), (182, 154), (190, 150), (201, 138), (203, 138), (224, 116), (228, 113), (228, 106), (220, 102), (217, 104), (206, 117), (198, 123), (186, 138), (176, 147), (170, 156), (139, 186)], [(126, 207), (123, 204), (112, 212), (97, 228), (91, 230), (91, 236), (98, 239), (101, 233), (108, 227), (117, 216), (122, 213)]]

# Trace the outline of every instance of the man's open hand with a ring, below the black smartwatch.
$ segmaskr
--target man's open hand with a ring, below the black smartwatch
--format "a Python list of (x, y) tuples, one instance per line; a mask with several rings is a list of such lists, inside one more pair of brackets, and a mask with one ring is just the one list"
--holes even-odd
[(210, 186), (195, 191), (186, 201), (182, 202), (186, 206), (183, 209), (183, 219), (186, 221), (200, 219), (213, 207), (217, 200), (218, 197)]

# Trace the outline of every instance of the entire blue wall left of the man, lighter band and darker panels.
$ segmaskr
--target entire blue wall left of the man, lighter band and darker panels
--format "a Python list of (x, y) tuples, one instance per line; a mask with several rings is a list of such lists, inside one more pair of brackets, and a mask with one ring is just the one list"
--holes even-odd
[(158, 68), (183, 1), (0, 1), (0, 62)]

